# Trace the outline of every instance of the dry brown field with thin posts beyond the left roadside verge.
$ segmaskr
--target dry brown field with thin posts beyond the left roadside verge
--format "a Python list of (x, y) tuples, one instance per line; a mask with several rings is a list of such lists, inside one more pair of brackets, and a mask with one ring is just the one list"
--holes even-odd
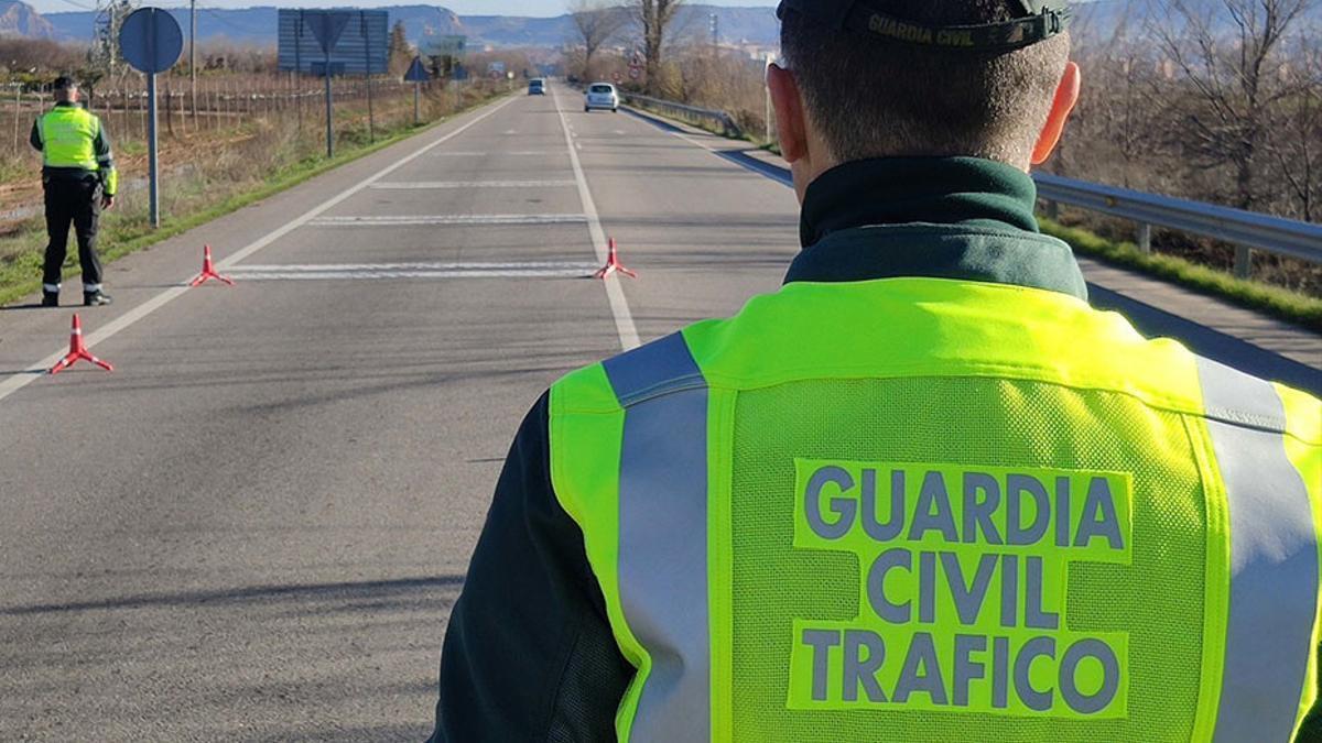
[[(274, 74), (206, 75), (194, 98), (188, 78), (157, 78), (157, 132), (163, 204), (175, 213), (208, 208), (223, 194), (325, 152), (325, 81)], [(504, 90), (490, 81), (423, 83), (423, 123)], [(132, 82), (83, 90), (83, 102), (110, 134), (124, 209), (147, 178), (147, 90)], [(397, 78), (334, 78), (337, 147), (361, 145), (406, 131), (414, 120), (414, 85)], [(196, 104), (194, 104), (196, 103)], [(41, 215), (41, 153), (28, 136), (53, 104), (50, 93), (0, 87), (0, 263), (28, 250), (15, 241)]]

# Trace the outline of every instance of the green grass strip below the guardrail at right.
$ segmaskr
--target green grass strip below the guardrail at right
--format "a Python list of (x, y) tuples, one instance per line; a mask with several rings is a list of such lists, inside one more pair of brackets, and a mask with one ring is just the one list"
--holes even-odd
[(1165, 279), (1232, 304), (1322, 332), (1322, 299), (1235, 276), (1174, 255), (1144, 253), (1132, 242), (1114, 242), (1088, 230), (1039, 218), (1042, 231), (1069, 243), (1076, 253)]

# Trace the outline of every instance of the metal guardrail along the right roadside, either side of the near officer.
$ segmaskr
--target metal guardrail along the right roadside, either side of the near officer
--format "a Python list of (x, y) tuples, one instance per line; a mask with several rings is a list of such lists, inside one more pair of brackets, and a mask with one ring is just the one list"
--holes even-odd
[[(703, 118), (728, 127), (727, 134), (740, 136), (730, 114), (710, 108), (685, 106), (642, 95), (628, 95), (662, 114), (676, 111), (689, 118)], [(685, 118), (685, 116), (676, 116)], [(1157, 196), (1140, 190), (1076, 181), (1050, 173), (1034, 173), (1038, 197), (1047, 202), (1054, 215), (1056, 204), (1068, 204), (1130, 219), (1138, 225), (1138, 249), (1151, 253), (1151, 229), (1165, 227), (1181, 233), (1210, 237), (1235, 243), (1235, 275), (1247, 279), (1253, 264), (1253, 250), (1265, 250), (1301, 260), (1322, 263), (1322, 225), (1284, 219), (1243, 209), (1216, 206), (1170, 196)]]

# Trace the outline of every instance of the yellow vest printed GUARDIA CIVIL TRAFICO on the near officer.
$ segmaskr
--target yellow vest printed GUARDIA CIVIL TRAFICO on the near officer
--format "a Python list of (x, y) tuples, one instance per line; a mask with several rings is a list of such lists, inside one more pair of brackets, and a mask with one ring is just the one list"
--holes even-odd
[(792, 283), (570, 374), (621, 740), (1286, 742), (1322, 403), (1042, 290)]

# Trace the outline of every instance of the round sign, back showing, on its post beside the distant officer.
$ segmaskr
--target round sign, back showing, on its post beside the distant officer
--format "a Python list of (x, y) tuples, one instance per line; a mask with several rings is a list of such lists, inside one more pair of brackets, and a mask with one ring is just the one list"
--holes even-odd
[(184, 50), (178, 22), (160, 8), (139, 8), (119, 28), (119, 50), (135, 70), (147, 75), (147, 165), (152, 227), (161, 223), (160, 163), (156, 137), (156, 73), (175, 66)]

